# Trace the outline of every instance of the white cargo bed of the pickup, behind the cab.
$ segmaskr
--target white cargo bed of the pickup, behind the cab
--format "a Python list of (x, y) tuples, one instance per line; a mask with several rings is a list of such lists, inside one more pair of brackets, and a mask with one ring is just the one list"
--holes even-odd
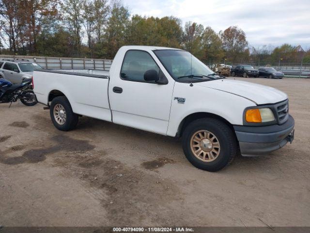
[(91, 69), (39, 69), (33, 73), (34, 93), (48, 105), (49, 96), (63, 93), (76, 114), (111, 121), (109, 71)]

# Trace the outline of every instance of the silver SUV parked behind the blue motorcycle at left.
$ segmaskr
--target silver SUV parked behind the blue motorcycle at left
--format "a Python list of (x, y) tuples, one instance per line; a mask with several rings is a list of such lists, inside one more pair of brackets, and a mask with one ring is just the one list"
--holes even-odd
[(0, 60), (0, 78), (19, 84), (31, 78), (33, 70), (40, 68), (42, 67), (37, 63), (26, 59), (2, 59)]

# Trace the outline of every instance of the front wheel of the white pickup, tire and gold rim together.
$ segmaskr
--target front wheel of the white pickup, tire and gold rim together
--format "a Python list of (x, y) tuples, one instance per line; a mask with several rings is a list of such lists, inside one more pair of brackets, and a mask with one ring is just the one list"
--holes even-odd
[(184, 131), (182, 144), (188, 161), (206, 171), (218, 171), (229, 165), (237, 150), (233, 131), (214, 118), (191, 122)]

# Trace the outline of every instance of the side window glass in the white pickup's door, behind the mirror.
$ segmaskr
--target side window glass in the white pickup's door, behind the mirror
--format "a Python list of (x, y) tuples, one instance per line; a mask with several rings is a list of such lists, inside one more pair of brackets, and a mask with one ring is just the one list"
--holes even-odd
[(157, 74), (159, 73), (159, 67), (148, 52), (128, 50), (121, 69), (121, 79), (149, 83), (144, 80), (144, 73), (150, 69), (156, 70)]

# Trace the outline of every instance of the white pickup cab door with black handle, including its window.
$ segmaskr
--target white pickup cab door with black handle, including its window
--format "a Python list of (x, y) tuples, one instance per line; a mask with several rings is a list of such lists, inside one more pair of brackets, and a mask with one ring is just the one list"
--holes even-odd
[(115, 67), (110, 74), (109, 100), (113, 122), (166, 135), (174, 80), (170, 79), (168, 84), (145, 81), (147, 70), (156, 70), (165, 77), (168, 73), (154, 54), (152, 56), (144, 50), (124, 53), (119, 61), (114, 60), (122, 66)]

